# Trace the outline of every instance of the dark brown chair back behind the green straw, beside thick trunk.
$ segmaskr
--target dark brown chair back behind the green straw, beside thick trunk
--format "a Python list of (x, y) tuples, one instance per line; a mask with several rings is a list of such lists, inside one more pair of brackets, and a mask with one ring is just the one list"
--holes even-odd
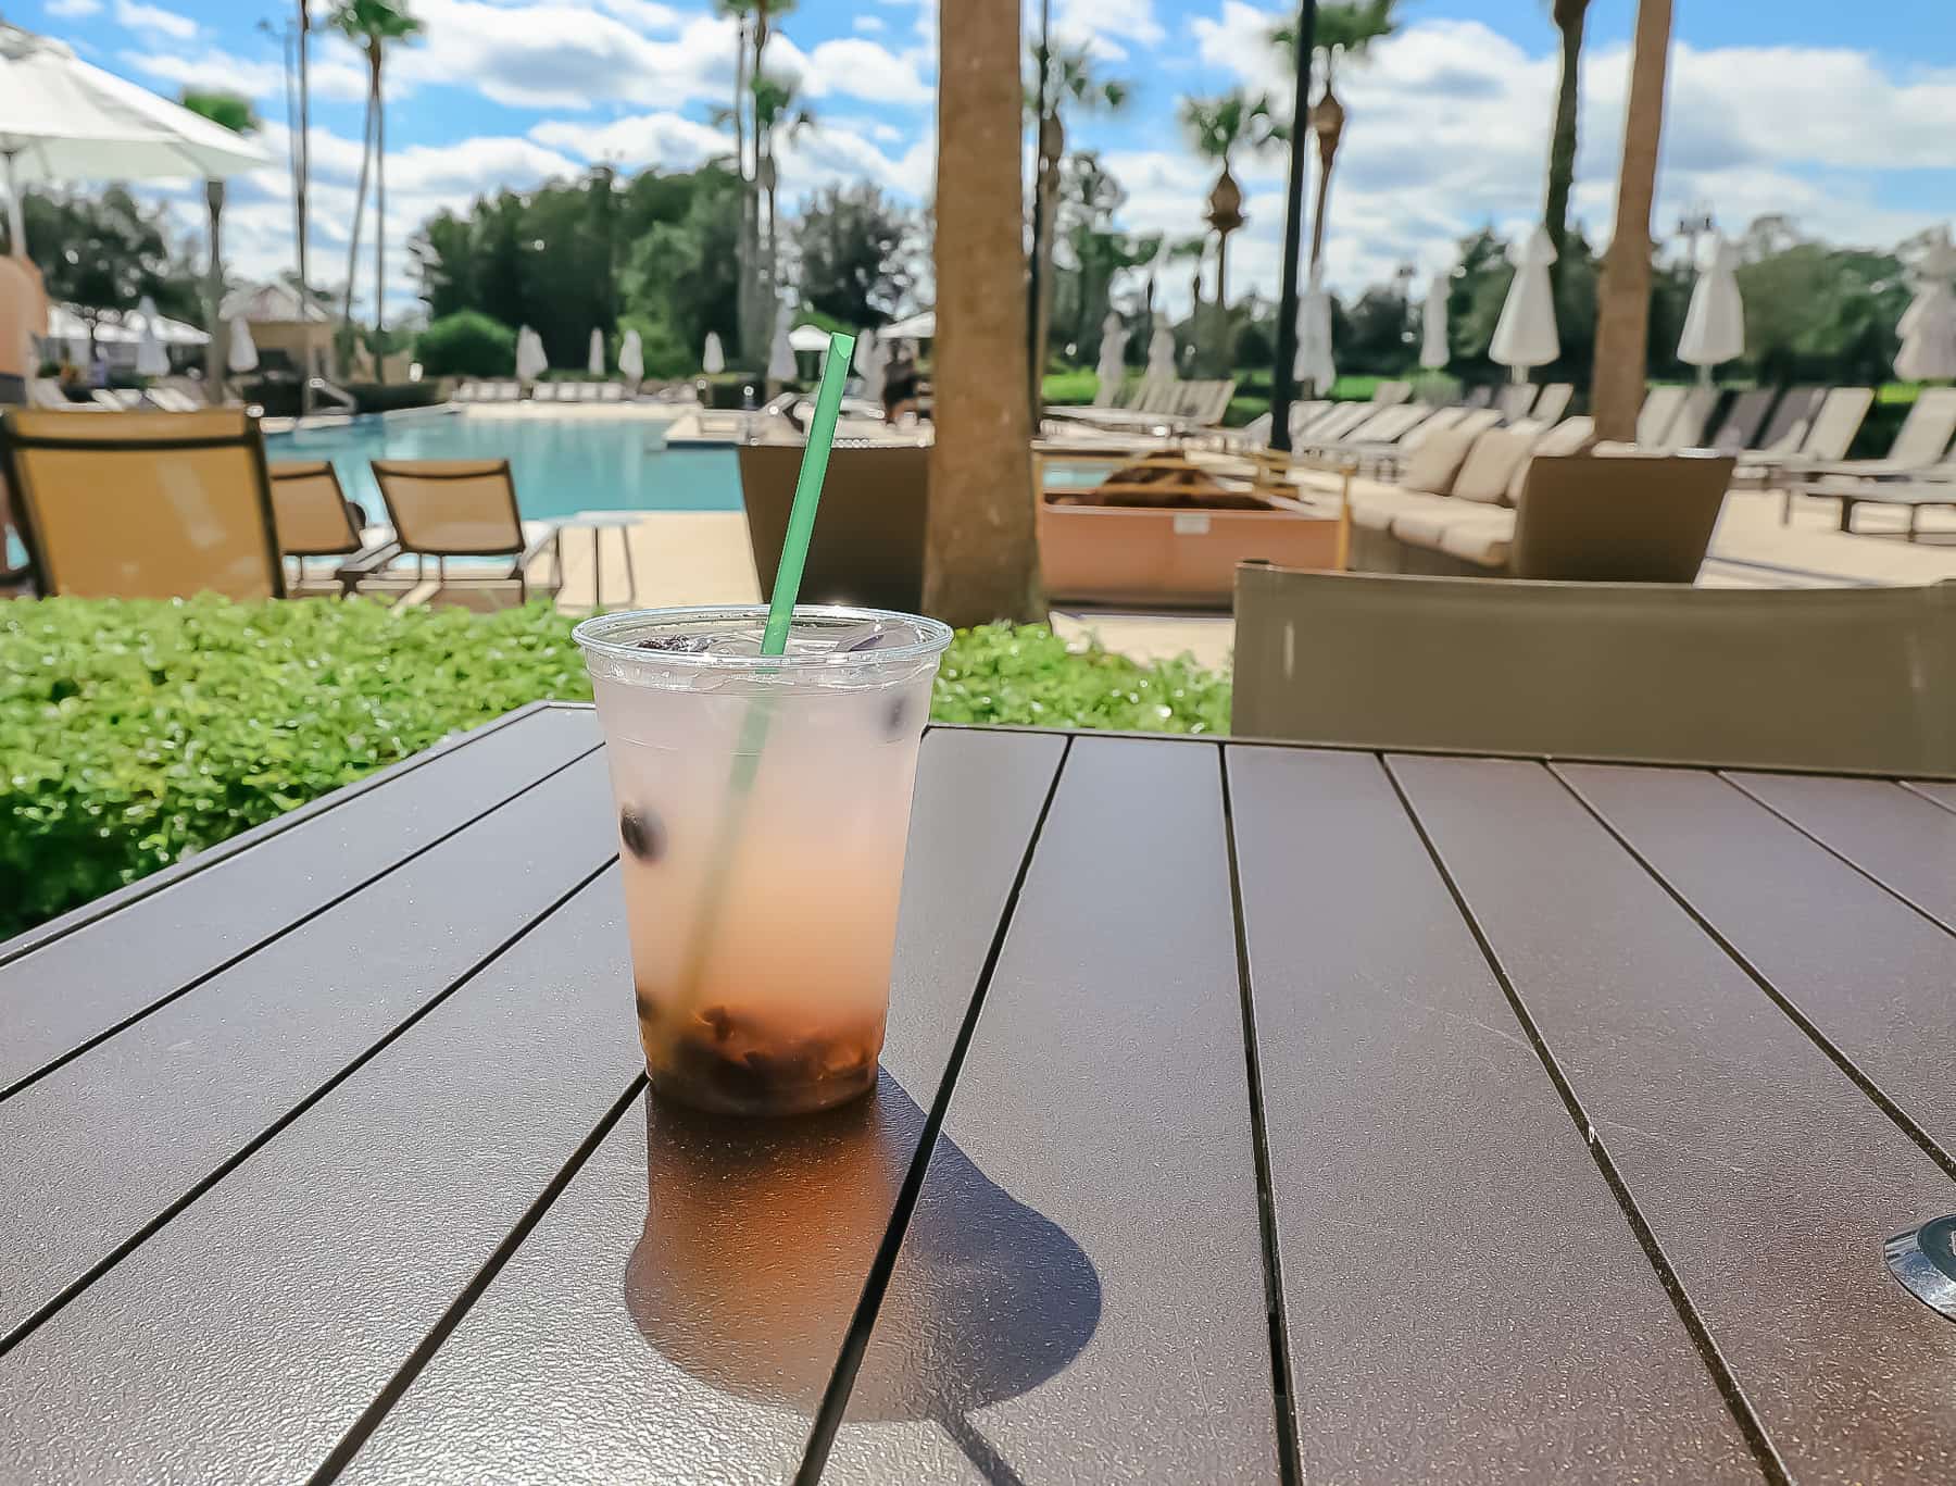
[[(741, 444), (739, 486), (761, 591), (775, 587), (788, 534), (800, 444)], [(919, 613), (931, 450), (919, 444), (851, 444), (829, 454), (822, 521), (802, 572), (804, 603), (859, 603)]]

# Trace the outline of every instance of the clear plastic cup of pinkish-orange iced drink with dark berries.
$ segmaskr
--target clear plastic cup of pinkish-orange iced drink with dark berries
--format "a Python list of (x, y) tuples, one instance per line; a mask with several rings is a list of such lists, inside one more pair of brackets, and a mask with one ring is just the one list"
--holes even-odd
[(618, 801), (659, 1094), (796, 1114), (876, 1083), (917, 740), (951, 630), (880, 609), (644, 609), (577, 627)]

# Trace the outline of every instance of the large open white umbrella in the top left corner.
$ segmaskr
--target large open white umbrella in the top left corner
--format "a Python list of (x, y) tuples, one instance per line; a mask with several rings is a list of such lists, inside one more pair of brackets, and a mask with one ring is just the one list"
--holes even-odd
[(39, 180), (223, 180), (270, 164), (250, 141), (0, 23), (0, 184), (25, 256), (20, 190)]

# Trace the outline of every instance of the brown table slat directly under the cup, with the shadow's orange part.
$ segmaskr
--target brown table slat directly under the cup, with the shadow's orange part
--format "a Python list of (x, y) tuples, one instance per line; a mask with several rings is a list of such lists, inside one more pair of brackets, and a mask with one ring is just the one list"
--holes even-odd
[[(1062, 748), (925, 736), (876, 1100), (763, 1126), (628, 1110), (344, 1482), (792, 1474)], [(747, 1206), (714, 1190), (728, 1159), (767, 1181)], [(647, 1171), (689, 1196), (675, 1224), (649, 1222)]]

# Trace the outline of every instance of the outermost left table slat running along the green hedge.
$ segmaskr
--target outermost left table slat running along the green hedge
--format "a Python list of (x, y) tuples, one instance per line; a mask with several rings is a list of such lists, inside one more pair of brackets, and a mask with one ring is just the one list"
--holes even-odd
[[(532, 713), (419, 769), (352, 785), (303, 828), (266, 836), (86, 932), (0, 963), (0, 1091), (180, 995), (597, 744), (587, 713)], [(37, 995), (47, 987), (61, 995)]]

